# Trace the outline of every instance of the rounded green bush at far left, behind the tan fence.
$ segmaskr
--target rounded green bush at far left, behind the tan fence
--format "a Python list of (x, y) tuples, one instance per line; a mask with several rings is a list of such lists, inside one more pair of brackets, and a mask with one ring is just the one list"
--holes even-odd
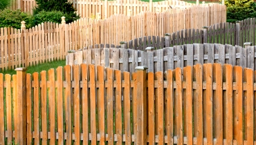
[(26, 21), (26, 28), (35, 26), (31, 14), (21, 12), (21, 10), (0, 10), (0, 28), (12, 27), (21, 28), (21, 21)]

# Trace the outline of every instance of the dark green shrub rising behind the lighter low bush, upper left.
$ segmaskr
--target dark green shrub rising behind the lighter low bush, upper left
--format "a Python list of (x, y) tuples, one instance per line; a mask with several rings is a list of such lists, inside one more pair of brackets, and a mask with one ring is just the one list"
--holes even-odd
[[(35, 0), (37, 1), (37, 7), (33, 10), (33, 14), (39, 14), (40, 12), (46, 11), (50, 12), (63, 12), (64, 17), (66, 17), (66, 23), (71, 23), (77, 19), (80, 19), (80, 16), (75, 12), (73, 8), (73, 2), (68, 0)], [(46, 12), (42, 14), (46, 14)], [(41, 14), (41, 15), (42, 15)], [(60, 18), (59, 18), (60, 19)]]

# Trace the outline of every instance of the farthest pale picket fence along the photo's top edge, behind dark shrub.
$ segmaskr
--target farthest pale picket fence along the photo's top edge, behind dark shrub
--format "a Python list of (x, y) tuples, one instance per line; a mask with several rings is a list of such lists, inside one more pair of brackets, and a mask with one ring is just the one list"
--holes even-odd
[[(118, 1), (95, 1), (95, 0), (73, 0), (73, 6), (82, 18), (95, 18), (100, 14), (101, 19), (107, 19), (113, 14), (136, 15), (140, 12), (164, 12), (172, 8), (188, 8), (194, 6), (194, 3), (187, 3), (185, 1), (158, 1), (149, 2), (138, 0), (118, 0)], [(33, 8), (36, 6), (35, 0), (12, 0), (10, 9), (21, 9), (24, 12), (33, 14)], [(203, 6), (210, 7), (208, 3)], [(221, 6), (221, 5), (220, 5)], [(219, 10), (219, 9), (218, 9)], [(217, 10), (217, 11), (218, 11)]]

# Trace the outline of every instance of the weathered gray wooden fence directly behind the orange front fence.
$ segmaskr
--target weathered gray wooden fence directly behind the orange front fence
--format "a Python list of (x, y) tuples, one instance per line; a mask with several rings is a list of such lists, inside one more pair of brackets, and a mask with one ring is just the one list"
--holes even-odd
[(194, 43), (147, 52), (125, 48), (94, 48), (68, 53), (66, 64), (95, 64), (122, 71), (134, 72), (136, 66), (147, 66), (149, 72), (165, 71), (194, 64), (219, 63), (255, 67), (256, 46), (223, 45), (218, 43)]

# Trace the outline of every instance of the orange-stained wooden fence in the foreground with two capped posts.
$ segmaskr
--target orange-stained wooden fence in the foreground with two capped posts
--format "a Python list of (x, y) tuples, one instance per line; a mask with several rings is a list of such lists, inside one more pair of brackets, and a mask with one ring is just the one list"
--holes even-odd
[(255, 74), (229, 64), (19, 68), (0, 75), (0, 144), (255, 144)]

